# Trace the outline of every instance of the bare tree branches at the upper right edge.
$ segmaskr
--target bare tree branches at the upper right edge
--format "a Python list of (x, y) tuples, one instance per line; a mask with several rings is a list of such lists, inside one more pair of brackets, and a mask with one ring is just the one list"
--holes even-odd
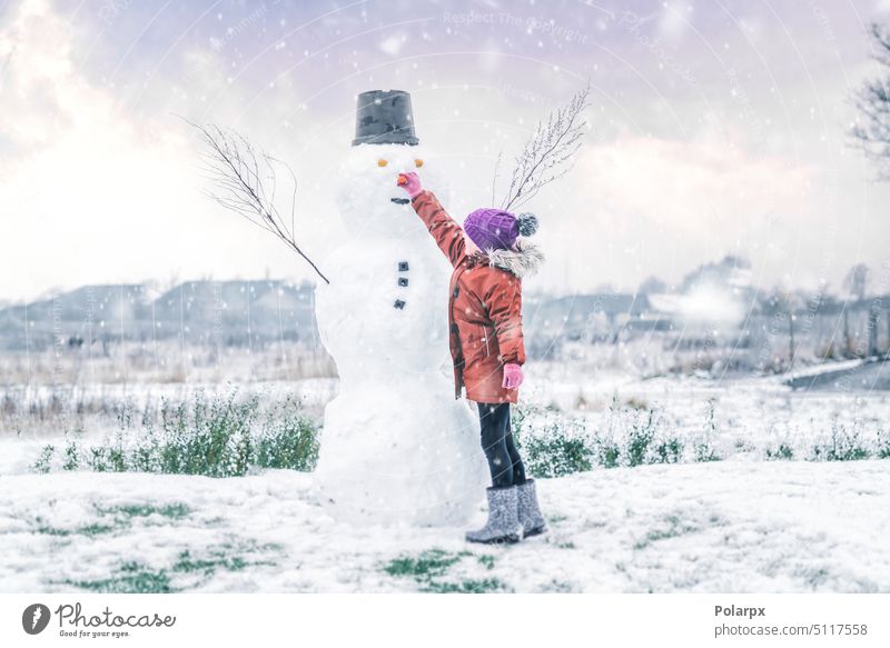
[(883, 76), (870, 79), (856, 94), (859, 119), (850, 129), (853, 140), (866, 156), (878, 163), (878, 172), (890, 180), (890, 29), (872, 24), (873, 58)]

